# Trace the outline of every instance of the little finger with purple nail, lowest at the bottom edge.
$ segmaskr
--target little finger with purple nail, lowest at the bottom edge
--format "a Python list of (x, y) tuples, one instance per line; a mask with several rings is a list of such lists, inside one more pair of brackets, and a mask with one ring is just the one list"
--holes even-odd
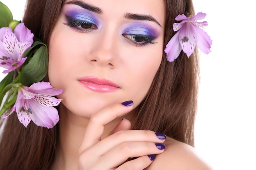
[[(151, 158), (154, 158), (153, 155), (150, 155)], [(127, 161), (126, 163), (122, 164), (115, 170), (144, 170), (152, 163), (153, 159), (151, 160), (149, 156), (145, 155), (142, 157), (138, 157), (137, 159), (133, 159), (131, 161)]]

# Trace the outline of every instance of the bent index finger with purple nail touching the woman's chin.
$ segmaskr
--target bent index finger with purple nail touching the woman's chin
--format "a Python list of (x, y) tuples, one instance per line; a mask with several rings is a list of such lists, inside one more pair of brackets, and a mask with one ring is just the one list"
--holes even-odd
[[(127, 103), (130, 105), (127, 105)], [(122, 104), (112, 104), (92, 115), (85, 130), (85, 135), (79, 148), (79, 154), (90, 146), (101, 141), (104, 126), (115, 118), (130, 112), (133, 108), (132, 105), (132, 101), (124, 102)]]

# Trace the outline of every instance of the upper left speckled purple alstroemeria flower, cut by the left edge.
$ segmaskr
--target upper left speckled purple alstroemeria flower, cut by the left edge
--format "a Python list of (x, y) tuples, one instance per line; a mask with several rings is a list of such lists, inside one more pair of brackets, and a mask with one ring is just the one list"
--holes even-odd
[(3, 73), (9, 73), (21, 66), (27, 57), (24, 52), (31, 47), (34, 34), (24, 23), (18, 24), (14, 33), (11, 28), (0, 28), (0, 66), (7, 68)]

